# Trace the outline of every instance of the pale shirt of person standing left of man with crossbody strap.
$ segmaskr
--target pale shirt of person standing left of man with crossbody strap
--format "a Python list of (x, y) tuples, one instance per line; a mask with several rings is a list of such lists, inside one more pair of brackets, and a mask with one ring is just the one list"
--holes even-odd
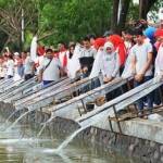
[(34, 61), (30, 59), (30, 57), (27, 57), (24, 62), (24, 74), (25, 75), (33, 74), (33, 64), (34, 64)]

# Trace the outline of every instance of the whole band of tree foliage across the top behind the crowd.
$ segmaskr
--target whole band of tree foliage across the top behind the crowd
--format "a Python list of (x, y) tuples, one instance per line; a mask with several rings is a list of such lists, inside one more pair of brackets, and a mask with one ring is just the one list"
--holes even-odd
[[(153, 1), (150, 9), (155, 11), (161, 0), (150, 1)], [(40, 42), (57, 45), (79, 40), (87, 34), (101, 36), (110, 27), (121, 30), (126, 21), (138, 20), (140, 13), (139, 5), (133, 0), (0, 0), (1, 45), (20, 48), (22, 9), (25, 13), (25, 48), (36, 34)]]

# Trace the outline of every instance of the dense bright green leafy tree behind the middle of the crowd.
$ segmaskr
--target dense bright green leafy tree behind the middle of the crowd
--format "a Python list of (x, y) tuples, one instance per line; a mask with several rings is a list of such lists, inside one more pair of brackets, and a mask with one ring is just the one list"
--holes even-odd
[[(87, 34), (103, 35), (111, 21), (110, 0), (55, 0), (43, 5), (40, 16), (42, 33), (52, 34), (45, 43), (79, 40)], [(45, 30), (45, 32), (43, 32)]]

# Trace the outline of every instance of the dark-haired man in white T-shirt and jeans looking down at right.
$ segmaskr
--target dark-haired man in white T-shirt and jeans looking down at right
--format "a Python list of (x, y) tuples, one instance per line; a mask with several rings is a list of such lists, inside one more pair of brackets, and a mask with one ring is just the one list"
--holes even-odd
[[(131, 70), (133, 74), (135, 74), (135, 87), (138, 87), (153, 77), (153, 49), (150, 42), (145, 42), (145, 37), (141, 30), (136, 30), (135, 33), (137, 43), (133, 47)], [(143, 98), (137, 102), (140, 117), (142, 117), (143, 113)], [(147, 102), (149, 111), (152, 112), (153, 93), (147, 96)]]

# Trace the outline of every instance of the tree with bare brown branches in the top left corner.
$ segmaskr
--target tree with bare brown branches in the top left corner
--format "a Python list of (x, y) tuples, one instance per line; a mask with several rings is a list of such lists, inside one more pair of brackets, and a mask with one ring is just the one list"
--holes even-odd
[(21, 48), (22, 10), (24, 10), (25, 29), (34, 30), (37, 24), (37, 11), (33, 0), (0, 1), (0, 30), (8, 36), (7, 43)]

